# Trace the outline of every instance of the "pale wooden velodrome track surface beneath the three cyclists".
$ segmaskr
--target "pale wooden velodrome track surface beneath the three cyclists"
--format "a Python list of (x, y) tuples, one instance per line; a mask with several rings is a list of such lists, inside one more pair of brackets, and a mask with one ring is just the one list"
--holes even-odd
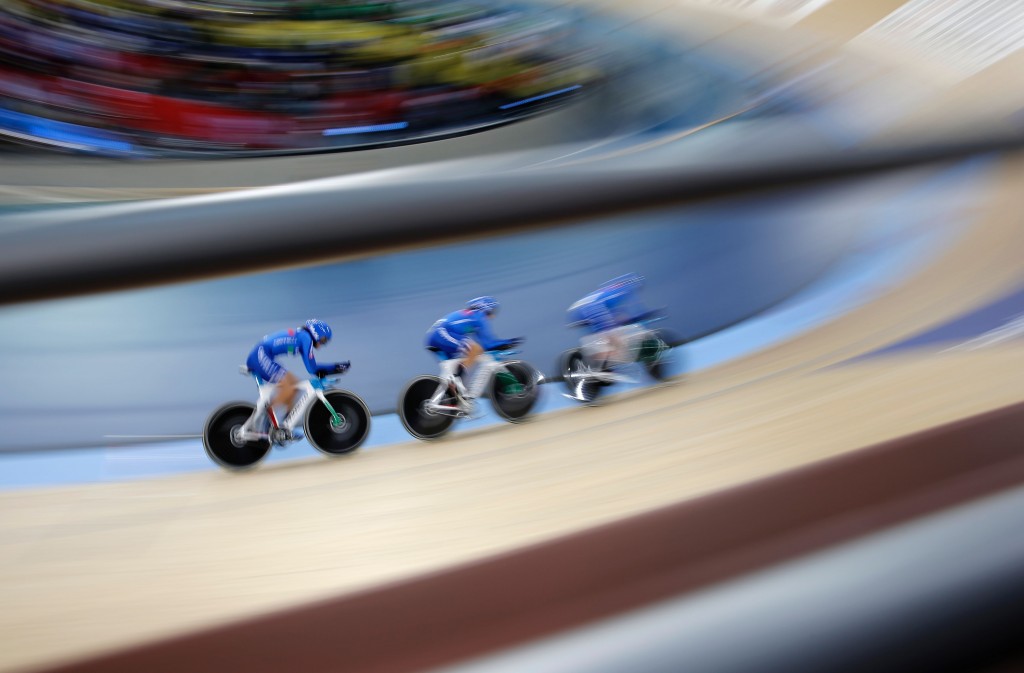
[[(805, 20), (845, 39), (899, 4), (834, 2)], [(998, 68), (1024, 66), (1020, 52), (1010, 59)], [(993, 77), (983, 71), (953, 88)], [(972, 226), (899, 288), (675, 385), (244, 477), (211, 471), (0, 494), (0, 670), (351, 595), (1020, 403), (1022, 340), (830, 367), (1020, 287), (1024, 161), (1008, 159), (997, 173)], [(1019, 477), (1019, 463), (1004, 473)]]

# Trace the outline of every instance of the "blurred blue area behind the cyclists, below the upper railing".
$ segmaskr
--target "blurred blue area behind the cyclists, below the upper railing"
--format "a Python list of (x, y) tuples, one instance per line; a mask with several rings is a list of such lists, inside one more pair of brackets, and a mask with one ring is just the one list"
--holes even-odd
[[(346, 385), (377, 413), (393, 409), (412, 373), (430, 373), (423, 334), (439, 306), (461, 304), (470, 288), (502, 297), (497, 326), (529, 335), (525, 355), (548, 375), (571, 343), (567, 306), (633, 268), (644, 269), (651, 305), (667, 307), (667, 327), (692, 340), (764, 311), (853, 255), (928, 230), (951, 236), (978, 207), (987, 171), (965, 164), (605, 217), (582, 228), (8, 307), (0, 310), (9, 344), (0, 367), (23, 384), (18, 398), (0, 407), (7, 428), (0, 450), (197, 432), (218, 402), (250, 394), (234, 374), (250, 342), (306, 313), (339, 326), (326, 356), (354, 363)], [(50, 382), (33, 372), (55, 350), (74, 353), (63, 376), (105, 372), (93, 383), (99, 394), (53, 399)], [(176, 375), (181, 362), (202, 386)], [(381, 362), (388, 367), (369, 365)], [(53, 414), (60, 423), (41, 422)]]

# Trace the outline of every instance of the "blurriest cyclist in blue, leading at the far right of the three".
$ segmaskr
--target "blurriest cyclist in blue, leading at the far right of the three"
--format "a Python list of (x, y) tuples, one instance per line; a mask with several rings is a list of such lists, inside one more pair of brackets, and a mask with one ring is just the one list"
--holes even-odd
[(625, 274), (604, 283), (568, 308), (570, 327), (587, 331), (584, 353), (601, 371), (629, 362), (634, 325), (656, 311), (648, 311), (637, 297), (643, 277)]

